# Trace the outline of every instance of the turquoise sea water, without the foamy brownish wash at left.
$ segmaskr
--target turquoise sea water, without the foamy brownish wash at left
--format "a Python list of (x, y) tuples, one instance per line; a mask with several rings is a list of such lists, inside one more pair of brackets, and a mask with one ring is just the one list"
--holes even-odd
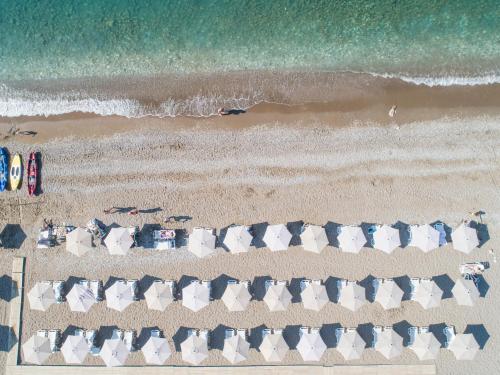
[(0, 35), (4, 96), (19, 80), (240, 70), (500, 76), (498, 0), (0, 0)]

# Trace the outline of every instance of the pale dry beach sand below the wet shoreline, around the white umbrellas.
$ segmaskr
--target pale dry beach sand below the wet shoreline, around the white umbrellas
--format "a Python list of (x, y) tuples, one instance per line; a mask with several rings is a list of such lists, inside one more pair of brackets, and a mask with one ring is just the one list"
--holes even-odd
[[(163, 121), (164, 129), (158, 126), (161, 120), (136, 120), (134, 123), (145, 126), (133, 131), (131, 123), (123, 120), (125, 128), (121, 132), (99, 138), (81, 137), (71, 131), (59, 137), (46, 131), (45, 136), (35, 137), (35, 141), (43, 141), (36, 148), (43, 154), (44, 194), (35, 199), (28, 199), (25, 190), (1, 195), (0, 226), (19, 223), (26, 235), (19, 249), (2, 251), (2, 271), (8, 274), (12, 255), (25, 255), (26, 290), (44, 279), (73, 277), (70, 282), (74, 282), (75, 277), (84, 277), (108, 282), (112, 277), (125, 277), (141, 279), (146, 286), (151, 277), (185, 281), (186, 276), (193, 276), (217, 279), (214, 292), (219, 296), (225, 275), (257, 278), (257, 288), (263, 276), (287, 280), (341, 277), (364, 282), (370, 276), (439, 276), (447, 297), (440, 308), (426, 311), (405, 301), (400, 309), (384, 311), (378, 304), (369, 304), (353, 313), (330, 303), (316, 313), (304, 310), (297, 302), (286, 312), (271, 313), (264, 302), (253, 301), (247, 311), (229, 313), (216, 299), (198, 313), (183, 308), (180, 302), (159, 313), (148, 311), (141, 300), (123, 313), (107, 309), (102, 302), (88, 314), (80, 314), (70, 312), (67, 304), (53, 306), (47, 312), (30, 311), (26, 304), (21, 341), (41, 328), (65, 330), (78, 326), (109, 333), (110, 327), (118, 326), (140, 333), (142, 328), (159, 327), (173, 345), (172, 338), (178, 343), (182, 336), (181, 327), (210, 328), (216, 330), (215, 348), (203, 364), (227, 365), (219, 350), (223, 326), (287, 327), (287, 340), (294, 346), (296, 326), (324, 325), (323, 334), (330, 346), (338, 324), (360, 325), (365, 338), (371, 323), (395, 324), (400, 332), (410, 324), (431, 325), (442, 339), (440, 331), (446, 323), (455, 325), (458, 332), (472, 329), (485, 345), (472, 362), (456, 361), (451, 352), (441, 350), (436, 360), (440, 374), (475, 374), (478, 369), (487, 374), (500, 372), (497, 264), (492, 263), (486, 271), (489, 290), (475, 308), (457, 306), (449, 293), (452, 281), (459, 277), (458, 264), (491, 261), (488, 250), (499, 249), (500, 117), (398, 120), (399, 124), (348, 127), (332, 126), (336, 119), (326, 114), (322, 118), (291, 116), (286, 123), (282, 118), (271, 123), (269, 114), (265, 117), (267, 121), (259, 120), (242, 129), (207, 127), (216, 120), (190, 120), (191, 126), (177, 129), (170, 120)], [(116, 118), (75, 121), (80, 125), (88, 123), (91, 129), (97, 123), (105, 127), (108, 122), (115, 126), (120, 122)], [(32, 128), (33, 123), (29, 126)], [(26, 139), (10, 139), (7, 146), (11, 152), (27, 155), (32, 146)], [(113, 205), (158, 207), (162, 211), (137, 217), (102, 214), (104, 208)], [(296, 228), (296, 222), (301, 220), (329, 223), (329, 228), (334, 223), (435, 220), (454, 227), (469, 212), (480, 209), (486, 211), (483, 219), (491, 238), (470, 255), (454, 251), (449, 245), (429, 254), (414, 248), (397, 249), (389, 256), (370, 249), (358, 255), (344, 254), (335, 247), (328, 247), (320, 255), (304, 252), (300, 246), (280, 253), (257, 248), (239, 256), (219, 249), (203, 260), (196, 259), (186, 248), (165, 252), (133, 249), (128, 256), (112, 257), (106, 255), (104, 247), (98, 247), (95, 254), (83, 258), (66, 253), (64, 246), (35, 249), (36, 228), (43, 218), (84, 225), (89, 218), (99, 217), (108, 225), (116, 222), (142, 227), (158, 224), (165, 216), (188, 215), (192, 221), (173, 225), (187, 231), (199, 225), (223, 228), (232, 223), (265, 222), (290, 223), (291, 228)], [(296, 289), (297, 280), (292, 281)], [(4, 305), (2, 302), (0, 307)], [(258, 343), (258, 330), (252, 333), (252, 342)], [(53, 355), (47, 363), (62, 364), (62, 355)], [(101, 363), (95, 358), (86, 361)], [(132, 354), (127, 363), (142, 364), (142, 354)], [(167, 363), (184, 364), (180, 352), (175, 352)], [(255, 349), (245, 362), (263, 363)], [(296, 350), (291, 350), (284, 363), (302, 360)], [(329, 348), (321, 363), (346, 362)], [(401, 358), (386, 361), (367, 349), (362, 360), (350, 363), (418, 363), (418, 359), (406, 349)]]

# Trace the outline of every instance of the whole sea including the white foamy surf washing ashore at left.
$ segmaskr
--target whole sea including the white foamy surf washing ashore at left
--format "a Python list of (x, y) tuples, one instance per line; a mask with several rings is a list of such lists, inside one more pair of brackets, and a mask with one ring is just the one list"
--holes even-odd
[(498, 0), (0, 0), (0, 35), (7, 117), (208, 116), (356, 74), (500, 82)]

